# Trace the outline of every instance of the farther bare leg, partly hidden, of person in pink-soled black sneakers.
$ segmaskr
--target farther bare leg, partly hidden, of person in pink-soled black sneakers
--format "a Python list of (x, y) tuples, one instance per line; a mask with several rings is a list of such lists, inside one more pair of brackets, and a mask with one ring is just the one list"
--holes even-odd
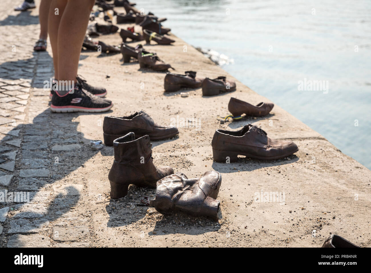
[[(48, 16), (48, 27), (50, 44), (53, 52), (54, 77), (58, 79), (58, 29), (59, 23), (64, 13), (67, 0), (43, 0), (50, 1)], [(56, 10), (58, 9), (58, 10)]]

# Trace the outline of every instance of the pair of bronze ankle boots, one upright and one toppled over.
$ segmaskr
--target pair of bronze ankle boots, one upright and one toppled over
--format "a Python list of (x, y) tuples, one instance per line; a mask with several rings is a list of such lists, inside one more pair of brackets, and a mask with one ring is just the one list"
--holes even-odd
[(201, 178), (188, 179), (170, 166), (156, 168), (152, 162), (152, 144), (148, 135), (136, 137), (133, 132), (113, 141), (114, 163), (108, 174), (111, 198), (128, 194), (128, 186), (156, 187), (150, 205), (162, 214), (183, 211), (199, 217), (218, 220), (220, 201), (216, 200), (221, 185), (221, 175), (214, 170)]

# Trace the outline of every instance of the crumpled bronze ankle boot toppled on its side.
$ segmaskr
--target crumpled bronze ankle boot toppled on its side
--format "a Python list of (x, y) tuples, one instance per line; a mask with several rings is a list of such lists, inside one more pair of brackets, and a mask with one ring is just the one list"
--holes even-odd
[(150, 206), (161, 214), (183, 211), (189, 215), (208, 216), (218, 221), (220, 201), (216, 200), (221, 185), (221, 174), (214, 170), (201, 178), (188, 179), (177, 172), (157, 181), (155, 199)]

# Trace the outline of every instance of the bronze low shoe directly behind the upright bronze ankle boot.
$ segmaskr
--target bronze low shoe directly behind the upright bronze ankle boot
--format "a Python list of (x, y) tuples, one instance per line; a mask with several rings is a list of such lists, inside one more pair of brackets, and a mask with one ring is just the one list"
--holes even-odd
[(179, 134), (176, 127), (160, 126), (144, 111), (128, 117), (104, 117), (103, 137), (107, 146), (112, 146), (116, 138), (129, 132), (134, 132), (137, 137), (148, 135), (152, 140), (167, 139)]

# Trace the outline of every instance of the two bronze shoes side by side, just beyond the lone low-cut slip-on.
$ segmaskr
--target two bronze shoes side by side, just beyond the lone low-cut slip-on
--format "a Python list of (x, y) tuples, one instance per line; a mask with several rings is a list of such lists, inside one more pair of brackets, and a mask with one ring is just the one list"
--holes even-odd
[(226, 77), (196, 78), (195, 71), (185, 71), (184, 75), (167, 73), (164, 79), (165, 92), (175, 92), (182, 87), (200, 88), (204, 96), (219, 95), (225, 92), (236, 90), (236, 82), (226, 79)]

